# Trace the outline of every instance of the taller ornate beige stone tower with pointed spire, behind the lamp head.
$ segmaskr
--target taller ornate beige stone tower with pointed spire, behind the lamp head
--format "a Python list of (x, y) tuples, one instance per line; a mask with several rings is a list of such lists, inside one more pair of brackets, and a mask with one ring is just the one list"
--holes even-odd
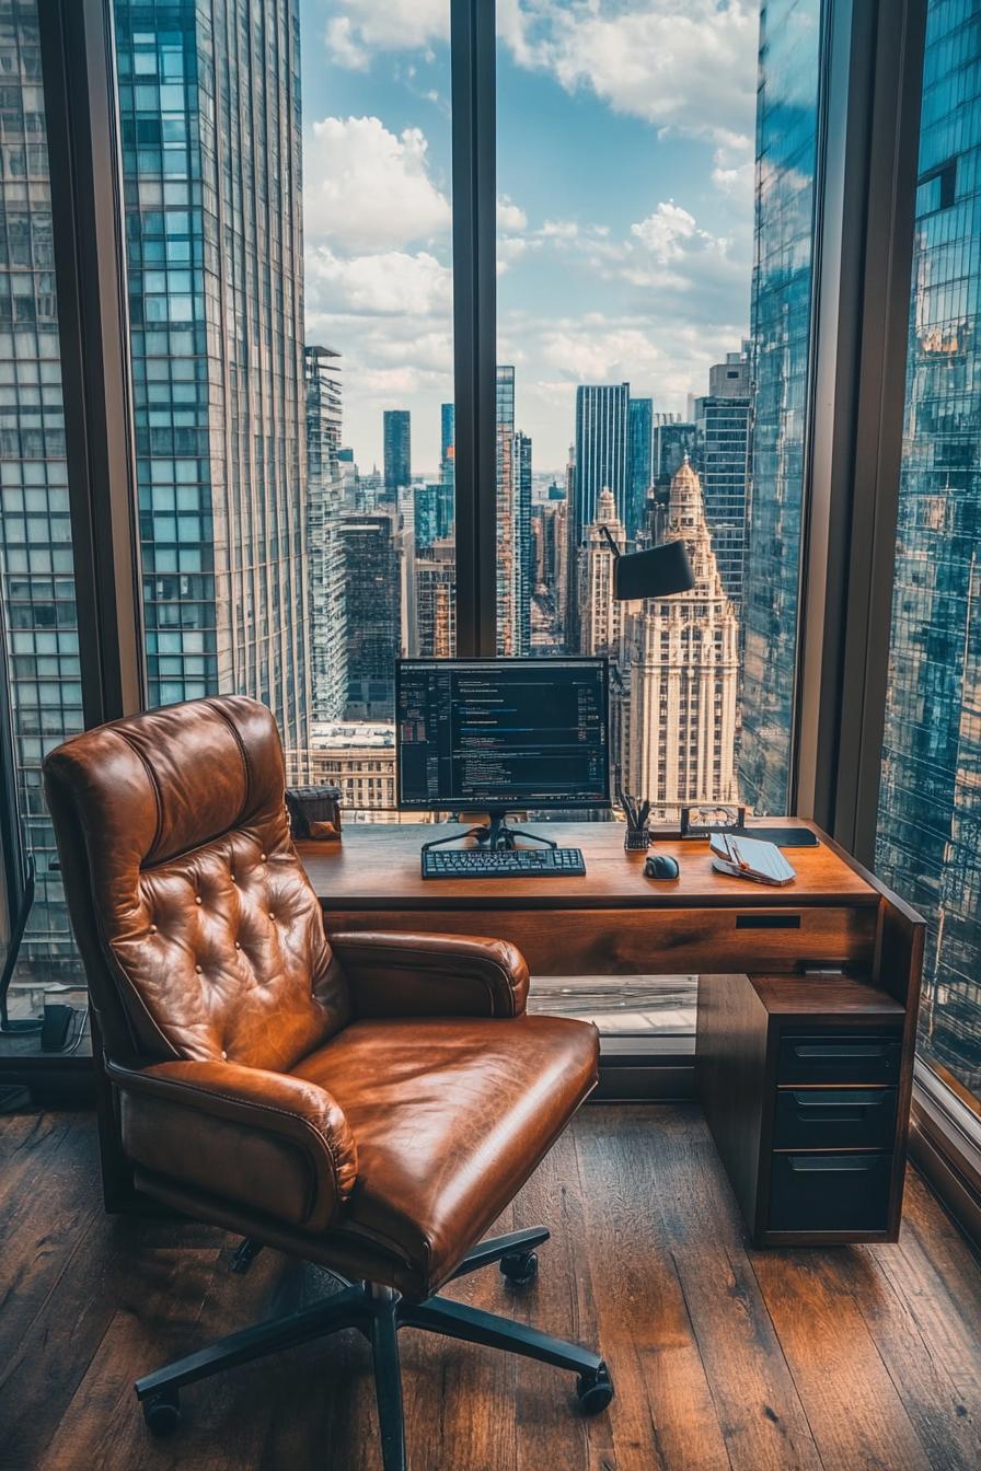
[(625, 786), (666, 821), (687, 803), (737, 800), (738, 625), (687, 455), (671, 481), (665, 527), (665, 540), (678, 538), (688, 547), (694, 588), (665, 602), (644, 600), (625, 635)]

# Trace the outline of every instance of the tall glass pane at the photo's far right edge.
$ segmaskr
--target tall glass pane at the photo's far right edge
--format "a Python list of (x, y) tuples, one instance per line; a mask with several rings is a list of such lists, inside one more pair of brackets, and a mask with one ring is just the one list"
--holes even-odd
[(921, 1049), (981, 1097), (981, 26), (928, 9), (877, 869), (928, 919)]

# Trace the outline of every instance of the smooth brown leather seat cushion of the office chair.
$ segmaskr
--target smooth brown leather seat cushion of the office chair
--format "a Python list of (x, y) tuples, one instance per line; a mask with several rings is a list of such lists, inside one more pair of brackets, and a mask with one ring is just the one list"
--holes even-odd
[(596, 1028), (566, 1016), (347, 1027), (293, 1068), (337, 1099), (357, 1147), (340, 1233), (435, 1292), (593, 1089), (597, 1056)]

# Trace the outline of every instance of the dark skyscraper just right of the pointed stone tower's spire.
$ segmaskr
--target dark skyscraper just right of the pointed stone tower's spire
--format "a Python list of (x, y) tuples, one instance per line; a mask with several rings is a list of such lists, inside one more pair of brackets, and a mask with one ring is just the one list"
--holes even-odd
[(728, 353), (724, 363), (709, 369), (706, 397), (696, 399), (691, 460), (702, 481), (722, 584), (737, 613), (743, 603), (750, 413), (749, 356)]

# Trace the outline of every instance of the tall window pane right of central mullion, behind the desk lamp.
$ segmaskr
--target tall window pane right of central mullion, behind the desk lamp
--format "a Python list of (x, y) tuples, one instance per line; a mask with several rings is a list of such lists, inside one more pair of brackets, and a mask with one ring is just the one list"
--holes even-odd
[[(654, 821), (785, 811), (819, 35), (821, 0), (499, 7), (499, 652), (609, 655)], [(675, 538), (694, 591), (616, 602), (610, 540)]]

